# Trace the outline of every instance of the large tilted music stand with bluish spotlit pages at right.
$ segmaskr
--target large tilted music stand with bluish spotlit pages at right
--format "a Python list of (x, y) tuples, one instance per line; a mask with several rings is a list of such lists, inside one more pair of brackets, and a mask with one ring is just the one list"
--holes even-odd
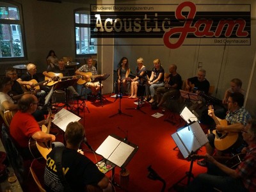
[[(200, 127), (198, 122), (191, 122), (184, 127), (178, 129), (179, 131), (172, 134), (172, 138), (175, 141), (177, 147), (179, 147), (180, 152), (183, 157), (191, 157), (195, 154), (198, 149), (204, 146), (209, 140), (205, 136), (204, 131)], [(176, 182), (172, 187), (182, 182), (182, 180), (188, 177), (188, 183), (190, 182), (191, 177), (194, 177), (192, 173), (194, 159), (191, 159), (189, 172), (186, 172), (186, 175), (182, 177), (178, 182)]]

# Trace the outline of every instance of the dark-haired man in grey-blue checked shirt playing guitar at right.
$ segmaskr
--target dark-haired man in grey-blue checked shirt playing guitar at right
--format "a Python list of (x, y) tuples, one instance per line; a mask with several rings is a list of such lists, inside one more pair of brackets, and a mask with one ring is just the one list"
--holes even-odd
[[(243, 143), (243, 138), (241, 136), (241, 131), (244, 129), (244, 126), (246, 125), (246, 122), (251, 118), (250, 113), (246, 111), (243, 107), (244, 103), (244, 96), (241, 93), (231, 93), (228, 97), (228, 114), (225, 118), (229, 124), (227, 125), (221, 125), (220, 119), (215, 116), (214, 109), (209, 108), (208, 114), (211, 116), (211, 118), (214, 120), (216, 124), (216, 131), (217, 132), (237, 132), (239, 133), (238, 139), (235, 142), (235, 144), (228, 148), (228, 150), (225, 150), (224, 152), (232, 152), (233, 154), (237, 154), (241, 152), (241, 145)], [(228, 136), (228, 134), (227, 134)], [(216, 136), (212, 133), (207, 134), (207, 138), (209, 140), (209, 143), (205, 145), (207, 154), (212, 155), (214, 153), (214, 138)], [(225, 143), (223, 143), (224, 145)], [(237, 151), (239, 150), (239, 151)], [(216, 151), (216, 155), (220, 156), (221, 152), (220, 150)], [(204, 165), (204, 162), (198, 161), (199, 165)]]

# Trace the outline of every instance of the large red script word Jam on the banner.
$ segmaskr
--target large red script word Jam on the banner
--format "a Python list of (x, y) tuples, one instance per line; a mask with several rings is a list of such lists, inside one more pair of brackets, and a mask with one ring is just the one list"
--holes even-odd
[[(182, 10), (186, 6), (190, 8), (190, 12), (188, 13), (188, 18), (182, 15)], [(166, 31), (164, 33), (163, 42), (164, 42), (164, 45), (166, 45), (166, 47), (170, 49), (176, 49), (180, 47), (183, 44), (186, 37), (188, 36), (188, 33), (193, 33), (196, 37), (203, 37), (203, 36), (219, 37), (221, 36), (224, 26), (227, 26), (227, 29), (225, 31), (225, 37), (229, 37), (232, 35), (232, 31), (234, 30), (234, 27), (236, 25), (237, 25), (237, 29), (236, 29), (237, 37), (246, 37), (249, 34), (247, 31), (244, 31), (244, 28), (246, 26), (246, 21), (244, 19), (220, 20), (216, 28), (216, 31), (211, 31), (213, 20), (200, 19), (195, 22), (194, 26), (192, 26), (192, 21), (195, 18), (195, 15), (196, 15), (196, 6), (194, 3), (186, 1), (184, 3), (179, 4), (175, 12), (175, 17), (180, 22), (184, 21), (184, 26), (173, 27), (169, 31)], [(179, 34), (179, 39), (177, 40), (177, 42), (172, 43), (170, 42), (170, 38), (174, 34)]]

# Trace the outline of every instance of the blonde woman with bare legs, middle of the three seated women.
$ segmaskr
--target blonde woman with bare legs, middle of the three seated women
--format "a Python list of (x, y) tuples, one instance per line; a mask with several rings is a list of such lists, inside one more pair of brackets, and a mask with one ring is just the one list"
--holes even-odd
[(143, 65), (143, 58), (138, 58), (137, 60), (138, 67), (136, 68), (137, 76), (131, 81), (131, 96), (128, 98), (137, 98), (138, 85), (143, 85), (144, 82), (147, 82), (147, 69)]

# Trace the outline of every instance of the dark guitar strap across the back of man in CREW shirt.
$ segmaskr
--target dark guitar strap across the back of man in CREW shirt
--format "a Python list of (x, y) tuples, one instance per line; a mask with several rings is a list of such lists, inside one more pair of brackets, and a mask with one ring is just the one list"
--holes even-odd
[(56, 147), (56, 151), (54, 154), (54, 160), (56, 164), (56, 170), (57, 175), (60, 179), (61, 184), (64, 186), (65, 192), (72, 192), (72, 189), (70, 188), (70, 185), (68, 184), (67, 180), (65, 179), (65, 175), (62, 170), (62, 154), (63, 150), (65, 150), (66, 147)]

